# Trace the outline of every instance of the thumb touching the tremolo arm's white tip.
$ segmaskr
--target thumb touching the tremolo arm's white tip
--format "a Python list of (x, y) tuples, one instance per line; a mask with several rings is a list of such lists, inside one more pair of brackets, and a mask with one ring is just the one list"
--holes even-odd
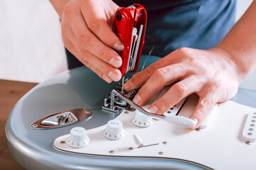
[(207, 116), (217, 101), (218, 97), (216, 93), (212, 91), (208, 92), (208, 94), (205, 96), (201, 96), (195, 111), (190, 117), (191, 119), (196, 118), (198, 120), (198, 124), (193, 129), (198, 128), (203, 123), (203, 121), (206, 120)]

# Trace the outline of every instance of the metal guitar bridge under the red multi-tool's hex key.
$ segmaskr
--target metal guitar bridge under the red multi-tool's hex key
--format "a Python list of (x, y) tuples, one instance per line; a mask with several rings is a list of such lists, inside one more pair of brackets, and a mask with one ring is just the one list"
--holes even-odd
[[(124, 80), (124, 83), (126, 81), (128, 81), (128, 78)], [(104, 99), (104, 104), (102, 106), (103, 110), (111, 111), (114, 113), (121, 113), (123, 110), (135, 111), (134, 107), (130, 106), (127, 101), (117, 96), (117, 94), (114, 94), (113, 91), (118, 91), (120, 94), (122, 94), (122, 82), (120, 82), (112, 91), (110, 91), (110, 94), (106, 96), (106, 98)], [(132, 101), (138, 91), (139, 89), (134, 89), (132, 91), (124, 90), (122, 95)]]

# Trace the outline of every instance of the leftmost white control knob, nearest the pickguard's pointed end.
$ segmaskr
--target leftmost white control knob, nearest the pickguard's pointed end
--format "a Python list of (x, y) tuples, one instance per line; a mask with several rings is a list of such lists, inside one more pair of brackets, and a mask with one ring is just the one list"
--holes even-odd
[(85, 147), (90, 142), (90, 138), (87, 136), (85, 128), (75, 127), (70, 130), (70, 137), (67, 139), (70, 147)]

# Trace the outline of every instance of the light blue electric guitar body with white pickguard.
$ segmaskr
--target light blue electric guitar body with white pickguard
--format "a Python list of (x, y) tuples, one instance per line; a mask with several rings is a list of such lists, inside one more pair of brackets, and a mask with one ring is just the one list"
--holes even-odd
[[(159, 59), (149, 57), (146, 66)], [(142, 56), (140, 63), (144, 60)], [(6, 137), (12, 157), (24, 169), (255, 169), (256, 145), (250, 136), (255, 135), (256, 123), (252, 121), (251, 127), (246, 127), (247, 115), (252, 115), (255, 108), (233, 101), (220, 103), (208, 127), (201, 131), (157, 119), (149, 127), (141, 128), (133, 122), (136, 111), (102, 110), (106, 95), (116, 85), (105, 83), (86, 67), (63, 72), (38, 84), (16, 103), (7, 120)], [(250, 95), (243, 98), (250, 101), (256, 98)], [(188, 117), (197, 101), (196, 95), (188, 96), (178, 115)], [(85, 108), (82, 111), (89, 115), (79, 120), (76, 108)], [(58, 124), (54, 122), (58, 116), (35, 123), (53, 113), (69, 119), (53, 128), (48, 127), (50, 123)], [(105, 137), (109, 120), (122, 122), (125, 135), (121, 139)], [(65, 125), (72, 121), (75, 123)], [(45, 128), (36, 129), (38, 125)], [(75, 127), (87, 130), (90, 142), (85, 147), (71, 147), (68, 143), (70, 130)], [(246, 138), (244, 133), (248, 134), (248, 130), (251, 135)], [(134, 134), (143, 140), (144, 147), (134, 143)]]

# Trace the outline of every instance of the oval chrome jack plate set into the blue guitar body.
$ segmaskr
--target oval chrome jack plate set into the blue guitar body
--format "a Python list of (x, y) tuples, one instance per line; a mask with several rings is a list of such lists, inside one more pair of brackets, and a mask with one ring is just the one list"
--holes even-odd
[(86, 108), (76, 108), (48, 115), (31, 124), (32, 129), (52, 129), (73, 125), (92, 117), (92, 111)]

